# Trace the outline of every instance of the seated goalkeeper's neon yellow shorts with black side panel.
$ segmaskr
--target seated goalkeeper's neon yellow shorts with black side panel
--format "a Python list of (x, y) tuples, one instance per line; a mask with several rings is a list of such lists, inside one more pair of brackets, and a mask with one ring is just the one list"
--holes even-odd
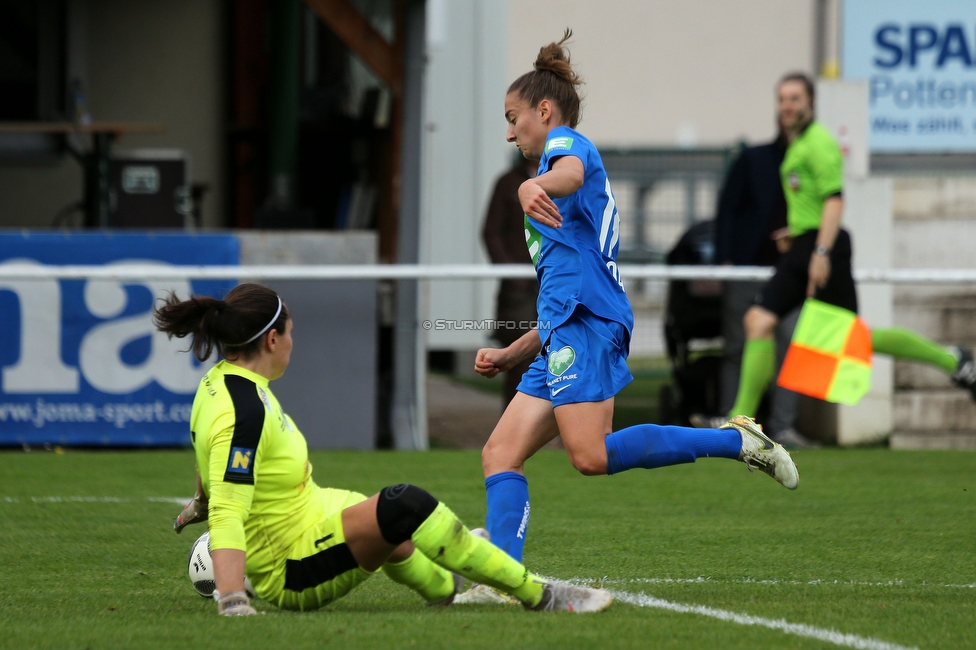
[(259, 588), (282, 609), (318, 609), (342, 598), (373, 575), (353, 559), (342, 531), (342, 511), (366, 500), (358, 492), (321, 488), (325, 516), (288, 551), (283, 566)]

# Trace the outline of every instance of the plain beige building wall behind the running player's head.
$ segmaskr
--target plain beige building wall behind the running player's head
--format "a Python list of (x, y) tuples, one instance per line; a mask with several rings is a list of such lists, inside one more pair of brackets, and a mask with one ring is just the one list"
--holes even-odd
[[(774, 86), (814, 72), (814, 0), (519, 0), (509, 82), (573, 29), (586, 85), (580, 130), (598, 146), (724, 145), (774, 135)], [(501, 128), (502, 98), (496, 102)]]

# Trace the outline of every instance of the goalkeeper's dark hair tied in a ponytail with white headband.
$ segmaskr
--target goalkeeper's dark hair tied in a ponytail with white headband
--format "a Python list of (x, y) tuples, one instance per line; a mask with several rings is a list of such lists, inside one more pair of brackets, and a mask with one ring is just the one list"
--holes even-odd
[(234, 350), (245, 359), (260, 347), (261, 335), (285, 331), (288, 308), (271, 289), (259, 284), (240, 284), (223, 300), (193, 296), (180, 300), (170, 293), (153, 309), (153, 323), (170, 338), (193, 337), (193, 356), (204, 361), (216, 348), (226, 356)]

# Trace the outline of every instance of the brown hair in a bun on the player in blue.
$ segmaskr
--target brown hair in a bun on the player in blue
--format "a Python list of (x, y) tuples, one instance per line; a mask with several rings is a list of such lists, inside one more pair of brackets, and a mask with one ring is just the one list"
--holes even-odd
[(518, 93), (519, 99), (535, 108), (543, 99), (548, 99), (559, 108), (566, 123), (576, 128), (581, 115), (581, 99), (576, 87), (583, 80), (573, 70), (569, 62), (569, 50), (564, 47), (573, 30), (566, 29), (558, 43), (550, 43), (539, 50), (535, 70), (526, 72), (508, 87), (509, 93)]

